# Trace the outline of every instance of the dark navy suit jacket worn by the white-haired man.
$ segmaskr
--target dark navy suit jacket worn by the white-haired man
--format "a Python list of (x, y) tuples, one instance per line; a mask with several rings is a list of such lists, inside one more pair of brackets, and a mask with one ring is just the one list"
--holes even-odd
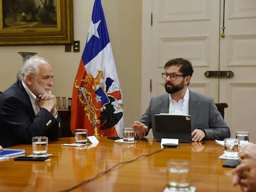
[(61, 130), (59, 117), (55, 119), (46, 109), (41, 108), (35, 115), (21, 81), (0, 95), (0, 145), (4, 148), (32, 143), (32, 136), (57, 139)]

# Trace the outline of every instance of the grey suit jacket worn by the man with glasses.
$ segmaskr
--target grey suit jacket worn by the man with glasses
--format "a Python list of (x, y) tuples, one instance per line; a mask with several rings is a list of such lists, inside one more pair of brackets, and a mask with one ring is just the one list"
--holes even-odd
[[(139, 120), (155, 131), (155, 114), (169, 113), (169, 94), (151, 98), (146, 112)], [(197, 128), (205, 131), (205, 140), (223, 140), (230, 137), (229, 127), (212, 98), (189, 90), (189, 115), (192, 131)], [(147, 133), (148, 134), (148, 133)]]

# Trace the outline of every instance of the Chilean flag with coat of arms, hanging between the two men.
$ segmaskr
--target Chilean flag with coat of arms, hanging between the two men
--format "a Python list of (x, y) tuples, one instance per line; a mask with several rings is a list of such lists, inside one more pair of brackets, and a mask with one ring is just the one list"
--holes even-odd
[(122, 136), (122, 91), (101, 0), (95, 0), (87, 42), (75, 77), (70, 130), (88, 136)]

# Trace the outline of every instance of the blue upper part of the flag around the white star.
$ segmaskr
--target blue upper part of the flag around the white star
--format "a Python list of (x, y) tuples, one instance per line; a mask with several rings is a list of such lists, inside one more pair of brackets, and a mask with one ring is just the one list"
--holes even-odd
[[(86, 65), (90, 62), (98, 53), (106, 47), (109, 43), (108, 28), (106, 27), (106, 20), (103, 12), (103, 7), (100, 0), (96, 0), (93, 6), (92, 23), (99, 22), (98, 25), (98, 35), (92, 35), (90, 40), (85, 44), (85, 49), (83, 50), (83, 64)], [(91, 25), (92, 25), (91, 23)]]

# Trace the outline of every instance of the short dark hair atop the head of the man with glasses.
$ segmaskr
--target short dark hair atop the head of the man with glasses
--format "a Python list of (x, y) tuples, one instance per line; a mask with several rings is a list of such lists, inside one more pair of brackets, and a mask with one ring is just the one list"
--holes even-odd
[(177, 65), (178, 67), (181, 66), (179, 71), (182, 73), (182, 75), (190, 75), (192, 77), (194, 70), (190, 61), (182, 58), (171, 59), (170, 61), (166, 62), (166, 64), (164, 64), (164, 69), (173, 65)]

